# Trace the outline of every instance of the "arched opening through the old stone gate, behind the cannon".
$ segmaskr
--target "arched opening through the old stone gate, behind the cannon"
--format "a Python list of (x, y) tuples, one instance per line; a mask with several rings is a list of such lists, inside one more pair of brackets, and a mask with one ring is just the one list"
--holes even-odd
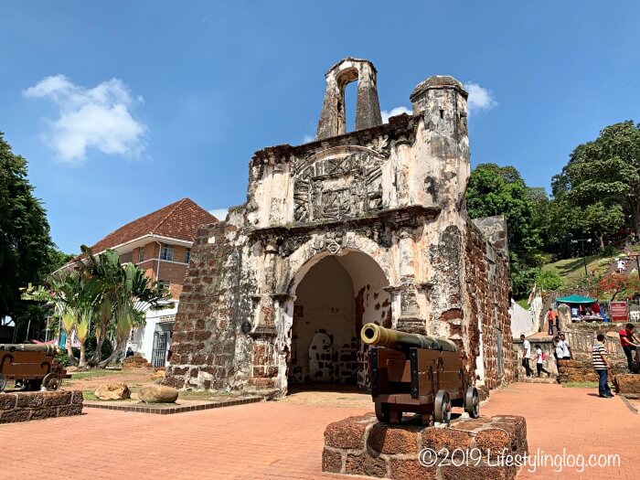
[(368, 387), (360, 329), (391, 326), (389, 285), (378, 262), (361, 251), (318, 254), (294, 277), (287, 383)]

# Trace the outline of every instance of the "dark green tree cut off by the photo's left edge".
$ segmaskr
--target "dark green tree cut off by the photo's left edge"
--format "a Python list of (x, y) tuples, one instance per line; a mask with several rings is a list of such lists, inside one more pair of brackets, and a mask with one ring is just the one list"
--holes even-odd
[(0, 133), (0, 316), (26, 310), (20, 288), (50, 272), (53, 243), (45, 209), (27, 179), (27, 160), (15, 155)]

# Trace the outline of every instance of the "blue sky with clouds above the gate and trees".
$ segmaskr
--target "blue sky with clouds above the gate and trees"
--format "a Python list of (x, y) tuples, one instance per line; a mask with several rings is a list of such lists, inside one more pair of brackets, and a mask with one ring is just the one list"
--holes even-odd
[(315, 133), (325, 70), (347, 56), (374, 62), (386, 111), (433, 74), (474, 84), (472, 166), (515, 165), (530, 186), (604, 126), (640, 122), (632, 1), (41, 1), (2, 16), (0, 131), (67, 252), (182, 197), (244, 202), (253, 152)]

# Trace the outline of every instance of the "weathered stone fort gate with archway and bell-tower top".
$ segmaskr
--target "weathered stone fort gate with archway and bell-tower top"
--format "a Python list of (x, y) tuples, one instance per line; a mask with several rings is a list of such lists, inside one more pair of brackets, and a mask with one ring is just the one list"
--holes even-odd
[(315, 141), (256, 152), (247, 202), (198, 231), (165, 382), (268, 396), (291, 383), (366, 387), (368, 322), (453, 339), (480, 388), (510, 381), (507, 231), (466, 215), (462, 84), (430, 77), (411, 115), (382, 123), (368, 60), (325, 78)]

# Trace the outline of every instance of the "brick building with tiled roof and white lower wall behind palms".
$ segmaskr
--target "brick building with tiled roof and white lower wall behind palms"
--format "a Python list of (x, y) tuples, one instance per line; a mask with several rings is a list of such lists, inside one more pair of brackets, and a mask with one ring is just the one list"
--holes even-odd
[(166, 363), (182, 285), (197, 229), (218, 222), (193, 200), (183, 198), (112, 231), (91, 246), (94, 254), (112, 249), (123, 263), (137, 264), (152, 282), (164, 283), (176, 307), (146, 313), (146, 325), (133, 332), (127, 347), (157, 367)]

